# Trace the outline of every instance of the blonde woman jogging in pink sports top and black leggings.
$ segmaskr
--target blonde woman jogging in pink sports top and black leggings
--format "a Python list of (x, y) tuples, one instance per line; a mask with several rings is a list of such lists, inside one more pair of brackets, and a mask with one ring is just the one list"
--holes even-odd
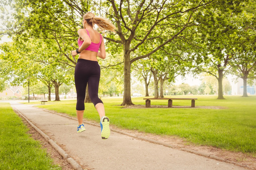
[[(72, 51), (72, 56), (79, 54), (74, 73), (75, 88), (77, 93), (76, 114), (78, 119), (77, 132), (85, 130), (83, 125), (85, 90), (88, 83), (91, 102), (100, 115), (101, 138), (107, 139), (110, 136), (110, 120), (105, 116), (103, 102), (98, 97), (101, 68), (97, 57), (106, 58), (106, 50), (102, 35), (97, 32), (94, 25), (101, 31), (115, 32), (115, 26), (106, 18), (97, 17), (88, 12), (83, 15), (83, 29), (77, 31), (79, 48)], [(100, 50), (100, 51), (99, 51)]]

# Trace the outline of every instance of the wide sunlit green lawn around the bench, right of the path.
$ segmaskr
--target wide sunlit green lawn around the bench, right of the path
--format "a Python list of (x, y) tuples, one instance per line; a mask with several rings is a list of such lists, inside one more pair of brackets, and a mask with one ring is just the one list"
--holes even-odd
[[(168, 96), (166, 96), (168, 97)], [(172, 96), (188, 97), (188, 96)], [(184, 137), (194, 144), (216, 146), (230, 151), (256, 156), (256, 96), (189, 96), (198, 98), (196, 106), (222, 106), (225, 109), (144, 108), (123, 109), (122, 98), (102, 98), (110, 124), (157, 135)], [(132, 98), (134, 104), (145, 105), (144, 97)], [(39, 102), (37, 102), (39, 103)], [(48, 102), (39, 107), (76, 117), (75, 100)], [(152, 105), (167, 105), (167, 101), (151, 101)], [(190, 100), (174, 100), (173, 105), (190, 106)], [(99, 120), (92, 103), (85, 103), (86, 119)]]

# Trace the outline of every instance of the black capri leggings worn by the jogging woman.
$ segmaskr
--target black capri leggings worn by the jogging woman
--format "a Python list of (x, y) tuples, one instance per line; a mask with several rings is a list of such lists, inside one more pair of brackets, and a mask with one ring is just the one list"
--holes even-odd
[(88, 83), (89, 96), (94, 107), (103, 103), (98, 97), (101, 68), (98, 61), (78, 59), (75, 66), (74, 80), (77, 93), (76, 110), (84, 110), (85, 90)]

